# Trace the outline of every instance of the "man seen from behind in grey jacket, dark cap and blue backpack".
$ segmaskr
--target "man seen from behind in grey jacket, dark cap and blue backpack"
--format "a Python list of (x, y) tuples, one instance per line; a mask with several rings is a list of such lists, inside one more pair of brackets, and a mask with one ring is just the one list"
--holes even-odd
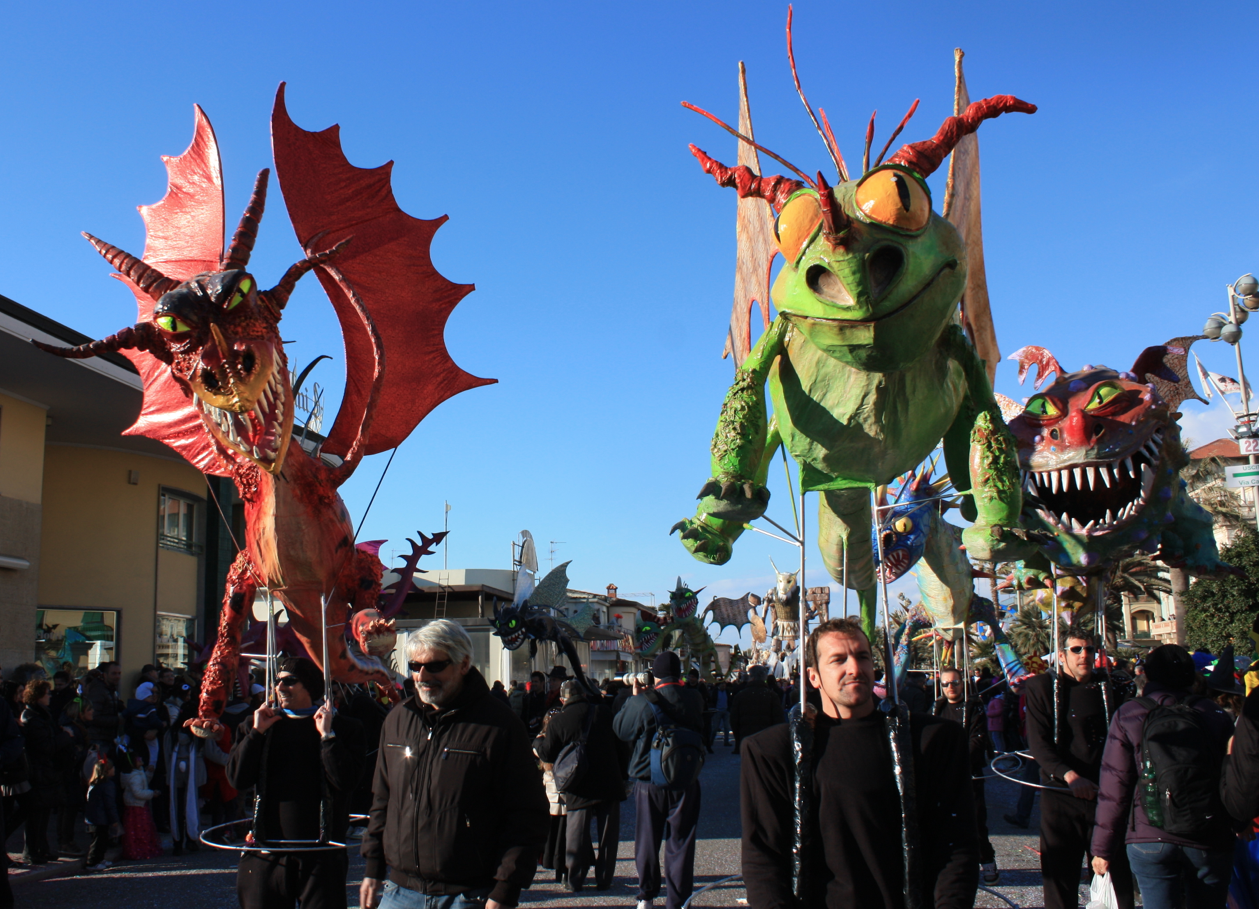
[(700, 817), (700, 782), (681, 792), (651, 783), (651, 743), (656, 738), (656, 710), (677, 718), (680, 726), (704, 731), (704, 697), (682, 685), (682, 663), (677, 653), (665, 651), (652, 663), (656, 687), (641, 689), (616, 715), (613, 729), (623, 742), (633, 743), (630, 778), (635, 781), (635, 864), (638, 867), (638, 909), (651, 909), (660, 894), (660, 842), (669, 822), (665, 842), (666, 909), (681, 909), (691, 895), (695, 874), (695, 828)]

